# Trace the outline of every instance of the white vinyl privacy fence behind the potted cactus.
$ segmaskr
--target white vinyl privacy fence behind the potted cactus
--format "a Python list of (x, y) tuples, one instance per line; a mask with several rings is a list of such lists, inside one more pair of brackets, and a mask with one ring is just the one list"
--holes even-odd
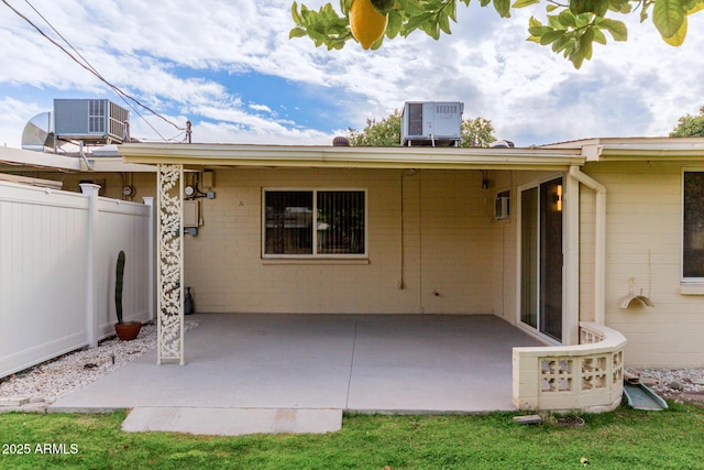
[(123, 250), (125, 320), (153, 319), (153, 207), (0, 182), (0, 378), (114, 334)]

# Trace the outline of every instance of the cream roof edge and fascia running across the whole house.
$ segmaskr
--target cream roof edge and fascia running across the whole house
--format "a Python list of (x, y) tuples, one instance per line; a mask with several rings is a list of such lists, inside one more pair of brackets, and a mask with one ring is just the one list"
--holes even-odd
[[(107, 149), (107, 147), (106, 147)], [(77, 156), (0, 147), (0, 170), (143, 172), (186, 167), (338, 167), (415, 170), (564, 170), (587, 162), (704, 163), (704, 138), (606, 138), (515, 149), (128, 143)]]

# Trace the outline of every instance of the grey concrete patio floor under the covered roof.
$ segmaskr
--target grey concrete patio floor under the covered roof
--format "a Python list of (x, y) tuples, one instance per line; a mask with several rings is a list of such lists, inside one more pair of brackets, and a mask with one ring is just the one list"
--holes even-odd
[[(166, 422), (163, 428), (147, 424), (142, 430), (188, 431), (176, 422), (201, 422), (183, 417), (194, 409), (211, 416), (228, 409), (336, 411), (340, 419), (342, 411), (512, 411), (512, 348), (540, 345), (490, 315), (186, 318), (199, 325), (186, 332), (185, 365), (156, 365), (156, 351), (151, 351), (62, 397), (50, 413), (140, 408), (148, 411), (147, 422)], [(167, 417), (164, 409), (170, 411)]]

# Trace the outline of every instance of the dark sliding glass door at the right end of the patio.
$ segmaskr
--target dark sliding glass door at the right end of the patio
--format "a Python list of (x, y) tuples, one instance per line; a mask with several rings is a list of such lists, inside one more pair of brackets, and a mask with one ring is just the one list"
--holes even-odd
[(562, 178), (520, 192), (520, 321), (562, 342)]

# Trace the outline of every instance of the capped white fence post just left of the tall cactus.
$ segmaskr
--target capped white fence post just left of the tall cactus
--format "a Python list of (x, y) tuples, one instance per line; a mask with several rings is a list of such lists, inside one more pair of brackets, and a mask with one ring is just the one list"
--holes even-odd
[(96, 308), (96, 230), (98, 226), (98, 192), (100, 186), (91, 183), (81, 183), (80, 190), (88, 196), (88, 266), (86, 270), (86, 336), (89, 348), (98, 346), (98, 309)]

